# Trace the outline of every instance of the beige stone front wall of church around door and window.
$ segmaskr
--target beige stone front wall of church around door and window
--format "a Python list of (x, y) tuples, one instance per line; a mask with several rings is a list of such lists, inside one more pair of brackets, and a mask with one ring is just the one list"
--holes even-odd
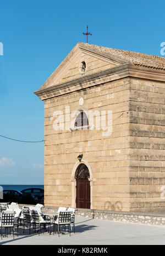
[[(92, 170), (92, 207), (130, 209), (129, 79), (121, 79), (45, 101), (45, 205), (72, 206), (73, 167), (83, 153)], [(79, 98), (84, 105), (79, 106)], [(54, 130), (53, 112), (76, 109), (110, 110), (113, 132)]]

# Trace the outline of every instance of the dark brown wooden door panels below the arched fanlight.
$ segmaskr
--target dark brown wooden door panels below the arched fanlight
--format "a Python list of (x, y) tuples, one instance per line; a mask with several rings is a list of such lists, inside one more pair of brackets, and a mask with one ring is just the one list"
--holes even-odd
[(87, 179), (76, 180), (76, 208), (90, 209), (90, 181)]

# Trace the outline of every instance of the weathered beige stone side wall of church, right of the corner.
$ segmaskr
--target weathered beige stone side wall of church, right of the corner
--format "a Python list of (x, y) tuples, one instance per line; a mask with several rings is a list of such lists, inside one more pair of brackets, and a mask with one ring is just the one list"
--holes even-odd
[(130, 82), (130, 211), (164, 212), (165, 88), (163, 82)]

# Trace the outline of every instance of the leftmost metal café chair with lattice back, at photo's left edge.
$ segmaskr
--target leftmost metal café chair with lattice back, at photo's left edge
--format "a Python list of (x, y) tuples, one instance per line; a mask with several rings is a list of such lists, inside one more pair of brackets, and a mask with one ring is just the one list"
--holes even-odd
[(0, 220), (0, 228), (1, 228), (1, 239), (2, 239), (2, 229), (4, 228), (4, 232), (8, 237), (8, 228), (11, 234), (11, 228), (13, 229), (13, 239), (14, 239), (14, 212), (13, 211), (5, 211), (1, 213), (1, 220)]

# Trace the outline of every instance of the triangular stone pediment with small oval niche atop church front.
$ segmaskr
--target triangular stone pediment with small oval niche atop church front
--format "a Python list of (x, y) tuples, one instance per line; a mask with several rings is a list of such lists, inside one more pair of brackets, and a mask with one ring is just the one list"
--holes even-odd
[[(78, 43), (40, 90), (127, 63)], [(84, 66), (85, 64), (85, 66)]]

